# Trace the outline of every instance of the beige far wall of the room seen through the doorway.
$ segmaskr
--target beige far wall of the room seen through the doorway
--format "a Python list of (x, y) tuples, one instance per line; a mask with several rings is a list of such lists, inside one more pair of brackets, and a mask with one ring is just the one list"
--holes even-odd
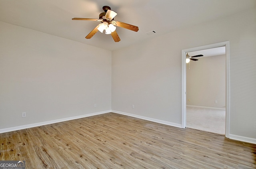
[(226, 108), (226, 55), (197, 59), (186, 64), (187, 105)]

